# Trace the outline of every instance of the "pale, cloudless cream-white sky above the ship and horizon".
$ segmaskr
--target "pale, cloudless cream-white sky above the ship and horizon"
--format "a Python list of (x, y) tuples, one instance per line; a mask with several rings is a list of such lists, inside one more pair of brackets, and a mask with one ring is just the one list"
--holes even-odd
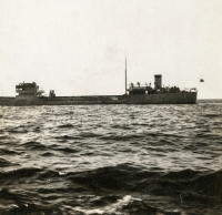
[(46, 94), (123, 94), (125, 55), (128, 84), (162, 74), (222, 99), (222, 1), (0, 0), (0, 96), (23, 81)]

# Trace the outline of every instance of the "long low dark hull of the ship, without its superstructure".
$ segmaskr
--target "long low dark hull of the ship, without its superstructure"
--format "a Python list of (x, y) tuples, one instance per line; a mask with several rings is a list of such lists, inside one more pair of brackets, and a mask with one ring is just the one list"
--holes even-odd
[(138, 95), (57, 96), (53, 100), (0, 98), (0, 105), (194, 104), (196, 102), (196, 92), (185, 92)]

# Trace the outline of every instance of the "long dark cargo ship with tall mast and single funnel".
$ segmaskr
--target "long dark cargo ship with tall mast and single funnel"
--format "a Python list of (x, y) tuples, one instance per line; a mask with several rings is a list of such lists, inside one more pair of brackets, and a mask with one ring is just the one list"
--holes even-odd
[(36, 82), (16, 85), (16, 98), (0, 96), (0, 105), (84, 105), (84, 104), (195, 104), (198, 90), (180, 90), (178, 86), (162, 86), (162, 75), (154, 75), (154, 88), (150, 84), (130, 83), (122, 95), (57, 96), (49, 95)]

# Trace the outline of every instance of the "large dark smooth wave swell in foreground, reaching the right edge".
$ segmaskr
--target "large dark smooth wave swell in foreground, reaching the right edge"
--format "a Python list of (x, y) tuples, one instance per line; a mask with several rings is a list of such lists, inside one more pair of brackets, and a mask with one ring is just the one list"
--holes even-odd
[[(139, 192), (158, 196), (173, 196), (189, 201), (200, 196), (222, 202), (222, 171), (214, 173), (184, 170), (179, 172), (149, 172), (129, 165), (102, 167), (84, 173), (69, 173), (69, 180), (102, 192)], [(184, 197), (188, 196), (188, 197)]]

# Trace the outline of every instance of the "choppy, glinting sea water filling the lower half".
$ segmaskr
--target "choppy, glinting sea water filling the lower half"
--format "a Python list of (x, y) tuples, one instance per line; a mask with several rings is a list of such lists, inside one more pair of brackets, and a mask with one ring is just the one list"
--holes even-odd
[(0, 106), (0, 214), (222, 214), (222, 103)]

